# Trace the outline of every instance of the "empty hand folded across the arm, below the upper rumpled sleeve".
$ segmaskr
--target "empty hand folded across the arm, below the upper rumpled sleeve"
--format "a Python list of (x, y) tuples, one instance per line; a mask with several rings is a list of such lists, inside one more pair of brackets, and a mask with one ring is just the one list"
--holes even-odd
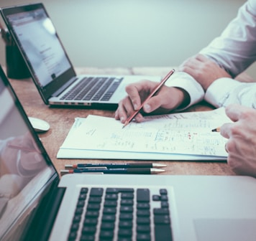
[(231, 77), (215, 62), (200, 54), (188, 58), (188, 60), (178, 67), (178, 70), (191, 75), (199, 84), (201, 84), (204, 91), (209, 88), (214, 80), (217, 80), (220, 77)]

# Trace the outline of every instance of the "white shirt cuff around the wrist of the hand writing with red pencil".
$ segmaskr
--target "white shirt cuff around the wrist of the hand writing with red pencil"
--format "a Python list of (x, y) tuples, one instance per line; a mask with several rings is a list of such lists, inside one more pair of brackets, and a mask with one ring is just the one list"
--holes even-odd
[(175, 72), (172, 77), (165, 82), (165, 85), (168, 87), (176, 87), (186, 90), (190, 96), (190, 103), (184, 108), (178, 110), (185, 110), (191, 105), (204, 99), (204, 89), (191, 75), (188, 75), (186, 72)]

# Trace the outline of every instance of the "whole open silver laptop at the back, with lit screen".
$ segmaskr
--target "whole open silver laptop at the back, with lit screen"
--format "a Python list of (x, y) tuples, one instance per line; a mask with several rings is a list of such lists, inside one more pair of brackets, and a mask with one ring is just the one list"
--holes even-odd
[(127, 84), (160, 81), (158, 76), (142, 75), (77, 76), (43, 4), (6, 7), (1, 15), (47, 105), (113, 109), (126, 95)]

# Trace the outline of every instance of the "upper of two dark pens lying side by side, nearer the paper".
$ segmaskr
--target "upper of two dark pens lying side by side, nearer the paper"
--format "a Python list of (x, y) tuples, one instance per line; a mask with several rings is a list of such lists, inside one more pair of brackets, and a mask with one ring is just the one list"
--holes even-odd
[(152, 164), (152, 163), (132, 163), (132, 164), (68, 164), (65, 165), (66, 168), (73, 169), (84, 169), (84, 168), (93, 168), (93, 167), (106, 167), (110, 169), (116, 168), (160, 168), (165, 167), (164, 164)]

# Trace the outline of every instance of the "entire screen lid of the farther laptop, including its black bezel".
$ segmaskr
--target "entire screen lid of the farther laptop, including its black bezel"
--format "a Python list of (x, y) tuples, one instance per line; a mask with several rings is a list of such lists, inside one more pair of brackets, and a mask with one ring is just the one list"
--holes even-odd
[[(76, 72), (43, 4), (9, 6), (1, 16), (24, 57), (45, 104), (75, 80)], [(63, 88), (60, 90), (60, 88)]]

